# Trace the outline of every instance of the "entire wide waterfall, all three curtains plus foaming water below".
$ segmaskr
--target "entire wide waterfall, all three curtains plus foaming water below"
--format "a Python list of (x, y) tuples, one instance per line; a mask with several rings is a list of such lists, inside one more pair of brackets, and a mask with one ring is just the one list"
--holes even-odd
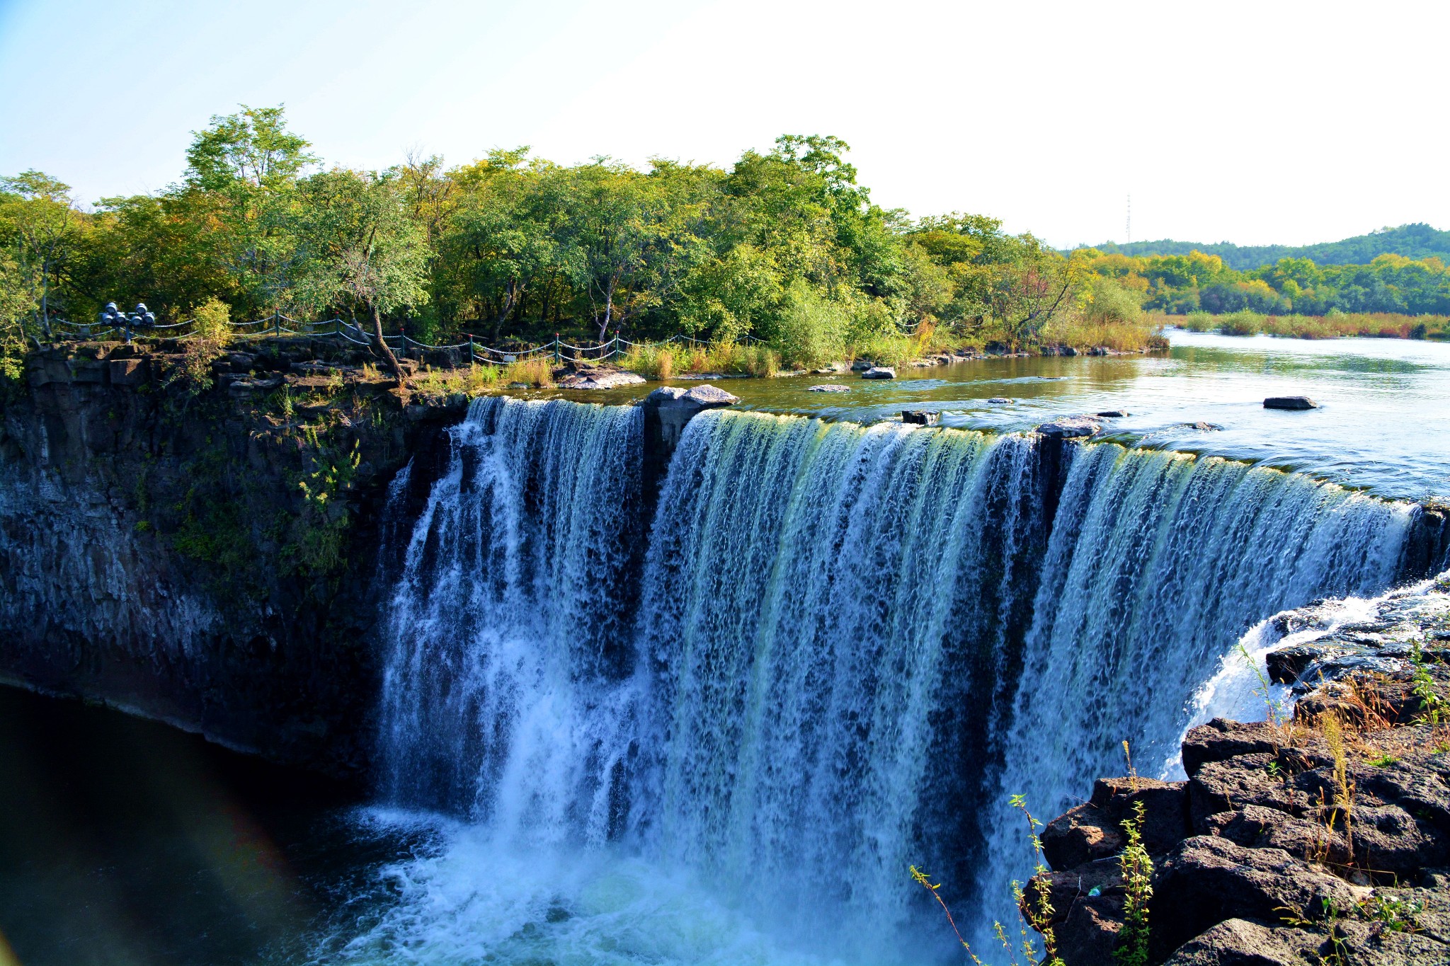
[(381, 717), (392, 801), (465, 821), (393, 870), (367, 956), (950, 953), (908, 865), (1009, 910), (1008, 792), (1053, 812), (1122, 739), (1166, 760), (1246, 626), (1383, 588), (1408, 523), (1112, 445), (1069, 446), (1058, 503), (1034, 437), (715, 411), (647, 534), (639, 410), (486, 400), (452, 433)]

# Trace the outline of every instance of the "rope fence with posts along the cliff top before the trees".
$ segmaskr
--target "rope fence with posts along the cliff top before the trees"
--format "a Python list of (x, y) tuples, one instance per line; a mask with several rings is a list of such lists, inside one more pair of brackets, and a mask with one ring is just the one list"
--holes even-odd
[[(309, 337), (336, 337), (344, 342), (349, 342), (358, 346), (371, 346), (374, 336), (364, 332), (357, 322), (344, 322), (342, 319), (326, 319), (322, 322), (299, 322), (280, 311), (274, 311), (265, 319), (254, 319), (252, 322), (228, 322), (228, 327), (232, 330), (231, 337), (242, 339), (267, 339), (280, 336), (309, 336)], [(130, 342), (135, 337), (151, 337), (160, 332), (167, 333), (164, 337), (168, 339), (197, 339), (202, 336), (196, 332), (196, 320), (187, 319), (184, 322), (173, 322), (168, 324), (161, 323), (136, 323), (132, 324), (84, 324), (67, 322), (62, 319), (52, 319), (52, 337), (59, 337), (62, 340), (83, 340), (83, 342), (109, 342), (112, 339), (120, 339), (122, 342)], [(186, 330), (186, 332), (180, 332)], [(175, 333), (175, 335), (170, 335)], [(483, 345), (483, 342), (470, 333), (463, 333), (467, 336), (464, 342), (454, 342), (450, 345), (429, 345), (426, 342), (419, 342), (410, 337), (407, 333), (399, 335), (384, 335), (383, 342), (393, 350), (407, 352), (409, 349), (419, 349), (423, 352), (438, 352), (438, 350), (455, 350), (467, 349), (467, 356), (484, 365), (509, 365), (513, 362), (525, 362), (528, 359), (536, 359), (539, 356), (552, 356), (555, 364), (567, 359), (586, 359), (592, 362), (609, 362), (612, 359), (619, 359), (629, 355), (634, 349), (652, 349), (660, 350), (671, 343), (687, 345), (692, 349), (709, 348), (712, 345), (721, 345), (719, 342), (710, 342), (706, 339), (696, 339), (687, 335), (674, 335), (668, 339), (661, 339), (657, 342), (631, 342), (625, 339), (618, 332), (612, 339), (599, 342), (594, 345), (574, 345), (571, 342), (564, 342), (558, 333), (550, 342), (542, 342), (536, 345), (528, 345), (523, 348), (513, 349), (496, 349), (493, 346)], [(745, 335), (740, 340), (745, 346), (760, 345), (764, 340), (751, 335)]]

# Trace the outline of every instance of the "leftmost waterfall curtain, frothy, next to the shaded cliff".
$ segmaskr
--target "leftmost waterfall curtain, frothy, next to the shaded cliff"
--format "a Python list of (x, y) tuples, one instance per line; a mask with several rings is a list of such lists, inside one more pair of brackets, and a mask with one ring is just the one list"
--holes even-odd
[(387, 611), (394, 801), (606, 833), (629, 749), (638, 410), (476, 400)]

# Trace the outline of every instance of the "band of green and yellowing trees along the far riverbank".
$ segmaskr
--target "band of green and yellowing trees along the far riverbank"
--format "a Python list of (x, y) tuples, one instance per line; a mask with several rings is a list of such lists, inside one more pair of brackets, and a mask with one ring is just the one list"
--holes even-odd
[(996, 219), (883, 209), (847, 152), (786, 135), (729, 168), (561, 165), (518, 148), (357, 171), (325, 167), (280, 107), (244, 107), (197, 132), (180, 180), (154, 194), (83, 209), (46, 174), (0, 180), (0, 365), (17, 375), (28, 339), (109, 301), (145, 301), (162, 322), (339, 316), (390, 369), (383, 333), (493, 346), (689, 335), (715, 348), (632, 362), (757, 375), (963, 348), (1143, 349), (1161, 323), (1144, 310), (1450, 313), (1434, 258), (1240, 272), (1198, 252), (1063, 253)]

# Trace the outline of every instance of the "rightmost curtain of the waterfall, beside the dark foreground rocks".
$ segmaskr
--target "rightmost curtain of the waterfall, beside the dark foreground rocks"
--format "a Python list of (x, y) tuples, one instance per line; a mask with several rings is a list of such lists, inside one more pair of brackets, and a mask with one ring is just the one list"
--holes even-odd
[[(1192, 698), (1257, 621), (1391, 584), (1404, 504), (1218, 458), (1083, 446), (1057, 510), (977, 894), (998, 915), (1044, 818), (1134, 766), (1169, 778)], [(986, 936), (979, 924), (979, 943)]]

